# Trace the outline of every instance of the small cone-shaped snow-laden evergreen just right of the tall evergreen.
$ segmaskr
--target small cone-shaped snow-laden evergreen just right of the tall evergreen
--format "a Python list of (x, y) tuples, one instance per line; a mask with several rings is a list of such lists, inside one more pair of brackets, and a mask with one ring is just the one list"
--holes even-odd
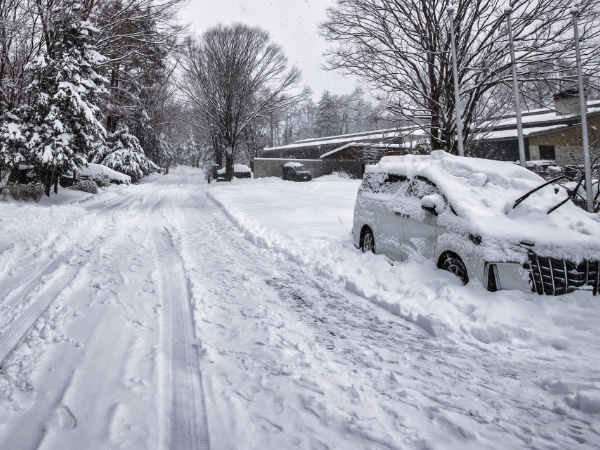
[(106, 143), (98, 149), (91, 162), (104, 164), (117, 172), (127, 174), (133, 182), (160, 170), (146, 156), (138, 138), (130, 133), (126, 125), (108, 134)]

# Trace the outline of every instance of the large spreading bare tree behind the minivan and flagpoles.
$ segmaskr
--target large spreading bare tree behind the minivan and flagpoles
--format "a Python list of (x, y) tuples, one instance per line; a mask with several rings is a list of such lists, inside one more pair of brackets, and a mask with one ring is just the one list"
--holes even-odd
[[(450, 60), (449, 0), (337, 0), (321, 33), (333, 44), (329, 67), (358, 75), (389, 96), (390, 110), (422, 127), (431, 148), (456, 151)], [(580, 11), (580, 34), (600, 34), (595, 0), (516, 0), (513, 31), (521, 80), (540, 79), (541, 59), (573, 58), (569, 9)], [(455, 29), (464, 139), (475, 125), (512, 108), (505, 86), (510, 59), (504, 0), (458, 0)], [(596, 22), (595, 22), (596, 21)], [(585, 47), (587, 70), (598, 67)], [(537, 63), (537, 64), (534, 64)]]

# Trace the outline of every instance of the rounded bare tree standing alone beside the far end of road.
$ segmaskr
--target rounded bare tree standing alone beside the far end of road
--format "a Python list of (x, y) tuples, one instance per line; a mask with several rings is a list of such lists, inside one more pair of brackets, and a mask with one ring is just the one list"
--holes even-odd
[(300, 81), (300, 71), (288, 70), (287, 62), (268, 32), (247, 25), (217, 25), (188, 42), (181, 87), (225, 151), (229, 179), (246, 128), (303, 95), (284, 95)]

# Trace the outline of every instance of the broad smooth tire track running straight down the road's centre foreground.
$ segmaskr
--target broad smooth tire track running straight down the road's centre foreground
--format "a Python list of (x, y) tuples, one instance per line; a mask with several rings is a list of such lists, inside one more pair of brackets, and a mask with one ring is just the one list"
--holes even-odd
[(169, 448), (208, 450), (208, 425), (194, 319), (182, 263), (169, 231), (155, 229), (153, 233), (156, 253), (160, 257), (159, 295), (166, 306), (164, 344), (170, 357)]

